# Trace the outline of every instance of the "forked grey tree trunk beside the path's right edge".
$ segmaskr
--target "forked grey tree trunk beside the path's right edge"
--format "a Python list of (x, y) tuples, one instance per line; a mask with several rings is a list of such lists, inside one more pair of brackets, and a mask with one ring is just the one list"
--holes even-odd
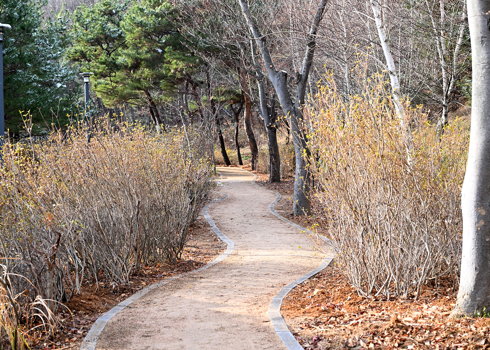
[(246, 1), (238, 0), (238, 2), (242, 8), (242, 13), (245, 17), (248, 28), (255, 39), (257, 47), (259, 47), (262, 59), (264, 60), (266, 66), (265, 68), (267, 70), (268, 78), (277, 93), (284, 116), (290, 120), (296, 161), (296, 169), (294, 174), (293, 213), (294, 215), (309, 215), (311, 210), (311, 203), (310, 199), (308, 198), (310, 192), (310, 174), (307, 168), (306, 157), (303, 157), (304, 153), (308, 153), (308, 150), (306, 148), (306, 139), (301, 127), (301, 119), (303, 116), (301, 113), (301, 108), (304, 104), (308, 76), (313, 61), (313, 55), (315, 53), (316, 42), (314, 38), (317, 34), (318, 25), (323, 17), (323, 11), (327, 0), (320, 0), (310, 32), (307, 35), (308, 42), (301, 70), (299, 74), (297, 74), (296, 96), (294, 101), (291, 100), (288, 89), (288, 73), (275, 69), (269, 48), (266, 45), (266, 38), (262, 36), (259, 28), (252, 19), (252, 15), (248, 9)]

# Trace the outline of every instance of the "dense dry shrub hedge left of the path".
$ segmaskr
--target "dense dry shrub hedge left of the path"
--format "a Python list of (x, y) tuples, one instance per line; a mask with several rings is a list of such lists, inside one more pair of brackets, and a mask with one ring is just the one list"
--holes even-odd
[[(113, 117), (90, 141), (73, 123), (49, 141), (4, 147), (0, 317), (18, 325), (39, 298), (55, 313), (83, 283), (127, 283), (141, 264), (180, 256), (212, 187), (213, 145), (197, 129), (155, 135)], [(4, 339), (12, 322), (1, 322)]]

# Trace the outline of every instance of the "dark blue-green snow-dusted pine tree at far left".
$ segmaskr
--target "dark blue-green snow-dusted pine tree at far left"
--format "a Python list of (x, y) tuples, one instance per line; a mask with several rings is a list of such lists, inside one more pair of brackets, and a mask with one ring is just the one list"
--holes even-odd
[[(76, 91), (67, 84), (76, 74), (63, 54), (68, 16), (61, 12), (54, 20), (43, 19), (44, 2), (0, 1), (0, 22), (8, 23), (3, 44), (5, 131), (25, 134), (19, 111), (31, 111), (34, 135), (47, 132), (46, 125), (63, 126), (74, 107)], [(73, 85), (73, 84), (72, 84)]]

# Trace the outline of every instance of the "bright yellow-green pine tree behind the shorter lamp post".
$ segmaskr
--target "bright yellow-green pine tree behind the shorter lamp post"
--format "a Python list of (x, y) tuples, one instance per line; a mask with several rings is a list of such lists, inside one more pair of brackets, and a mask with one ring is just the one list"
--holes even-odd
[(93, 91), (106, 106), (147, 106), (157, 129), (157, 106), (193, 72), (198, 58), (182, 44), (165, 0), (104, 0), (73, 13), (68, 57), (93, 71)]

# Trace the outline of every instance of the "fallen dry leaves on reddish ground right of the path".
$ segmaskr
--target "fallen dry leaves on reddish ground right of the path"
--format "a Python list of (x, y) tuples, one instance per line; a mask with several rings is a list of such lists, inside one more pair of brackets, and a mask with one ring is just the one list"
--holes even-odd
[[(447, 287), (447, 286), (446, 286)], [(304, 349), (487, 349), (489, 318), (451, 320), (452, 288), (419, 301), (359, 297), (336, 268), (297, 285), (281, 313)]]

